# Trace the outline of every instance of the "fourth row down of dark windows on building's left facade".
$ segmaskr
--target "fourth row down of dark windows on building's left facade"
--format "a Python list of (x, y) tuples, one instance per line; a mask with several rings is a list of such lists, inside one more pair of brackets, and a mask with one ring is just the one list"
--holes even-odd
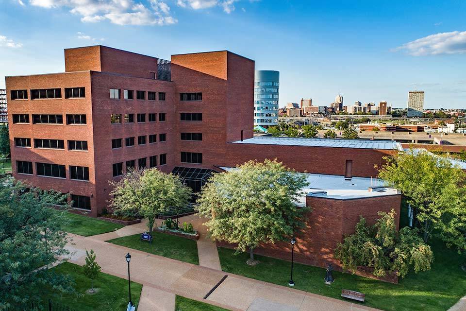
[[(16, 161), (17, 172), (21, 174), (33, 175), (33, 162)], [(67, 178), (65, 165), (51, 163), (35, 163), (37, 176)], [(70, 179), (89, 180), (89, 168), (84, 166), (69, 165)]]

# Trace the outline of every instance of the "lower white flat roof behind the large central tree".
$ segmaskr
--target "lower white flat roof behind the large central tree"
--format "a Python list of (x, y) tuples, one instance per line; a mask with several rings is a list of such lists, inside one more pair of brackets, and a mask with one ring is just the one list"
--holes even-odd
[[(220, 167), (225, 171), (232, 171), (236, 168)], [(361, 199), (369, 197), (379, 197), (399, 194), (394, 188), (384, 187), (383, 180), (367, 177), (345, 178), (341, 175), (326, 175), (301, 173), (306, 176), (309, 185), (303, 188), (304, 195), (300, 197), (299, 206), (306, 205), (306, 196), (322, 197), (337, 200)], [(369, 188), (377, 187), (375, 190)]]

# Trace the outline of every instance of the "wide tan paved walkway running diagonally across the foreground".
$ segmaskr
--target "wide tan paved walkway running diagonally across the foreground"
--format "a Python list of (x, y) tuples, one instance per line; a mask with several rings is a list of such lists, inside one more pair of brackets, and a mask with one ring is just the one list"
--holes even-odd
[[(278, 286), (243, 276), (221, 272), (174, 259), (160, 257), (123, 246), (100, 241), (94, 237), (69, 235), (67, 248), (72, 252), (70, 262), (83, 265), (85, 249), (93, 249), (103, 273), (126, 278), (125, 255), (131, 253), (131, 279), (147, 286), (143, 296), (145, 309), (159, 306), (160, 297), (171, 299), (173, 294), (204, 301), (225, 309), (239, 311), (362, 311), (375, 310), (285, 286)], [(228, 277), (207, 299), (203, 297), (225, 276)], [(144, 289), (143, 287), (143, 289)], [(158, 292), (160, 290), (162, 292)], [(166, 292), (168, 294), (164, 294)], [(153, 298), (152, 298), (153, 295)], [(143, 310), (143, 311), (144, 311)], [(158, 310), (158, 309), (154, 309)], [(164, 309), (160, 309), (164, 310)]]

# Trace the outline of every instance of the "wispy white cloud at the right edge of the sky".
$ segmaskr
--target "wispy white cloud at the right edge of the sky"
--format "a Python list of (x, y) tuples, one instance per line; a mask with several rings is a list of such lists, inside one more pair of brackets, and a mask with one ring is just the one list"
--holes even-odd
[(466, 53), (466, 31), (439, 33), (408, 42), (393, 50), (412, 56), (464, 54)]

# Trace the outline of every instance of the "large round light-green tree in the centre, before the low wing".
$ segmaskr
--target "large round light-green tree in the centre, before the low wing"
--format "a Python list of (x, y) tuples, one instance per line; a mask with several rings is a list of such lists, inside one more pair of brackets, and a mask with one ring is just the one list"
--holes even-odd
[(296, 204), (306, 177), (276, 160), (249, 161), (230, 172), (213, 175), (200, 193), (199, 213), (212, 238), (250, 252), (261, 243), (289, 239), (303, 225), (307, 209)]

